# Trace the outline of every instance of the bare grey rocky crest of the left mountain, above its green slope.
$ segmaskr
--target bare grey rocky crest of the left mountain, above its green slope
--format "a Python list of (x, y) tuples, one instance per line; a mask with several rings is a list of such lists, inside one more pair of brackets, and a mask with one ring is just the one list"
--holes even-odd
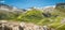
[(5, 11), (5, 12), (14, 12), (14, 13), (23, 13), (24, 10), (17, 9), (15, 6), (11, 6), (8, 4), (0, 3), (0, 11)]

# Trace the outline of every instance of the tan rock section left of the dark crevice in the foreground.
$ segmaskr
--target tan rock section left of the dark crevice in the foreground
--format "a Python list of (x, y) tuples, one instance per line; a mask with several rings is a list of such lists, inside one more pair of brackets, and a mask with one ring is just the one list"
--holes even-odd
[(13, 22), (13, 21), (5, 21), (2, 20), (2, 30), (20, 30), (18, 27), (18, 22)]

